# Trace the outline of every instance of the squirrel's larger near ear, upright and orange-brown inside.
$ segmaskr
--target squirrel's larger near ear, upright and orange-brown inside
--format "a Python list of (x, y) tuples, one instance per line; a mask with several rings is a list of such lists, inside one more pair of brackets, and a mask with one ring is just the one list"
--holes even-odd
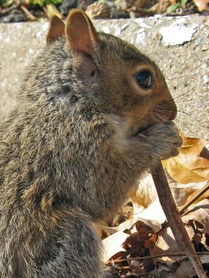
[(89, 17), (82, 10), (72, 10), (67, 17), (65, 35), (69, 47), (92, 55), (99, 36)]

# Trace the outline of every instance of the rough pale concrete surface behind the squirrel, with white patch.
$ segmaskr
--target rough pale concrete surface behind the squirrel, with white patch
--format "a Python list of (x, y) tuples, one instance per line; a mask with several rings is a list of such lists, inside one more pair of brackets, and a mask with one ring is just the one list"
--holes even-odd
[[(99, 31), (135, 44), (159, 65), (188, 136), (209, 138), (209, 17), (94, 21)], [(45, 44), (49, 24), (0, 24), (0, 119), (15, 104), (24, 68)]]

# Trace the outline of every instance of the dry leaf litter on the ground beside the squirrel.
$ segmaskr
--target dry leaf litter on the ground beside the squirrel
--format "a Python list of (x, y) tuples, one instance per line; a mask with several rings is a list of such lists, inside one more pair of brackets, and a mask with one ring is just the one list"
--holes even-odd
[[(179, 155), (162, 162), (179, 211), (200, 190), (209, 188), (208, 154), (206, 140), (183, 136)], [(182, 220), (209, 277), (209, 194), (205, 191), (185, 206)], [(197, 277), (190, 260), (178, 249), (151, 174), (131, 191), (116, 219), (111, 227), (100, 227), (100, 232), (103, 261), (114, 266), (117, 277)]]

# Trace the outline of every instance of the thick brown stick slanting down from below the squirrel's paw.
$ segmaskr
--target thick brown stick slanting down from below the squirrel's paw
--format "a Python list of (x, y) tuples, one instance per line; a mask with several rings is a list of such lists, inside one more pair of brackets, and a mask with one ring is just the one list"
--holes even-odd
[(169, 188), (169, 184), (167, 183), (165, 172), (160, 160), (158, 161), (158, 165), (155, 170), (151, 170), (151, 174), (156, 186), (160, 204), (172, 229), (179, 250), (187, 254), (197, 272), (198, 277), (206, 278), (206, 273), (203, 270), (199, 257), (194, 250), (190, 237), (188, 236), (181, 220), (181, 216), (178, 213), (178, 208), (174, 202), (174, 198)]

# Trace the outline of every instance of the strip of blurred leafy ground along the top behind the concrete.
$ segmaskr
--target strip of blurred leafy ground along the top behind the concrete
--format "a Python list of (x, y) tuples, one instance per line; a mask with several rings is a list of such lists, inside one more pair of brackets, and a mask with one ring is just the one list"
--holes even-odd
[(208, 0), (1, 0), (0, 22), (44, 21), (52, 14), (65, 18), (72, 8), (85, 10), (91, 19), (208, 15), (208, 5)]

